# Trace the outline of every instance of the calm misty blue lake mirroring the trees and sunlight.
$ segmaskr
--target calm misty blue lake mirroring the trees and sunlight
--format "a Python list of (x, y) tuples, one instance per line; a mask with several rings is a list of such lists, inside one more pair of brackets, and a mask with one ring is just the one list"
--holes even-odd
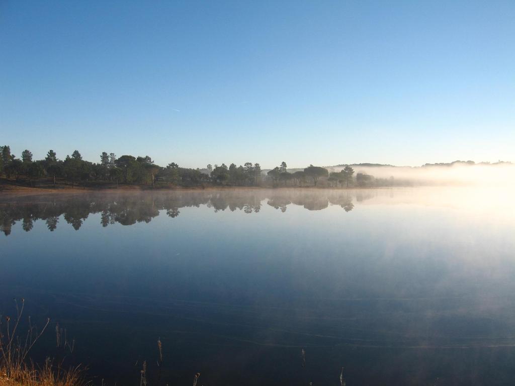
[(348, 386), (512, 384), (512, 197), (2, 194), (0, 313), (24, 297), (50, 318), (32, 356), (96, 384), (138, 384), (144, 361), (149, 385), (337, 385), (342, 367)]

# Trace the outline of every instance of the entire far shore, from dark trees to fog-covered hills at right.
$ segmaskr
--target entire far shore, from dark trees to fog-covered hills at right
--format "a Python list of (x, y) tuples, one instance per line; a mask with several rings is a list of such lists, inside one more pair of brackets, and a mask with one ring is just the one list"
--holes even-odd
[[(229, 165), (229, 166), (227, 166)], [(492, 166), (500, 166), (492, 169)], [(508, 168), (506, 168), (508, 167)], [(471, 182), (497, 183), (512, 180), (509, 162), (425, 164), (421, 167), (396, 167), (381, 164), (351, 164), (322, 167), (288, 168), (285, 161), (272, 169), (262, 169), (256, 162), (208, 164), (204, 168), (182, 167), (175, 162), (166, 166), (156, 164), (149, 155), (124, 154), (117, 156), (107, 151), (98, 155), (97, 162), (84, 160), (79, 150), (60, 159), (50, 149), (41, 160), (35, 160), (25, 149), (18, 158), (10, 146), (0, 146), (0, 181), (26, 186), (90, 186), (110, 187), (141, 185), (166, 186), (325, 186), (325, 187), (381, 187), (434, 184), (462, 184)]]

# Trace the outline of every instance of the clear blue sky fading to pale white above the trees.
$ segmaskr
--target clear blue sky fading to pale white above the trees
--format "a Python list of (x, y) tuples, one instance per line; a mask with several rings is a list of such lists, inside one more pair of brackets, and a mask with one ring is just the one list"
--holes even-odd
[(190, 167), (515, 161), (515, 2), (0, 0), (0, 143)]

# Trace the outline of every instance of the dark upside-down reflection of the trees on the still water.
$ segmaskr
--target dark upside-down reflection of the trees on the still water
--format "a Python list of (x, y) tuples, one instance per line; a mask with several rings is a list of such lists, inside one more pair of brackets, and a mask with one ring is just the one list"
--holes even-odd
[(4, 200), (0, 202), (0, 231), (6, 236), (12, 226), (22, 221), (25, 232), (32, 230), (34, 222), (43, 220), (50, 232), (55, 231), (59, 219), (79, 230), (90, 214), (101, 214), (101, 225), (133, 225), (150, 222), (165, 211), (170, 218), (181, 214), (181, 208), (205, 205), (215, 212), (242, 210), (244, 213), (259, 213), (264, 203), (286, 212), (288, 206), (301, 206), (307, 210), (321, 210), (329, 205), (339, 205), (350, 212), (353, 201), (362, 202), (374, 196), (372, 191), (355, 190), (233, 190), (189, 191), (153, 193), (78, 194), (54, 197), (35, 197), (23, 202)]

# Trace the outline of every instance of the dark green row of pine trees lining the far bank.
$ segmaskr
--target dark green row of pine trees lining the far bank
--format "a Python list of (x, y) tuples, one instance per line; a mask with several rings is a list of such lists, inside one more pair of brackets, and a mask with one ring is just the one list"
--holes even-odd
[[(94, 163), (82, 159), (78, 150), (66, 155), (60, 160), (54, 150), (48, 150), (42, 160), (34, 160), (28, 149), (22, 151), (17, 158), (11, 153), (8, 145), (0, 146), (0, 175), (7, 179), (19, 181), (24, 178), (32, 186), (41, 179), (50, 179), (54, 185), (70, 183), (72, 186), (88, 182), (112, 182), (125, 184), (155, 185), (168, 183), (181, 186), (203, 184), (228, 186), (258, 186), (271, 184), (273, 186), (318, 185), (320, 179), (327, 181), (330, 186), (349, 186), (353, 182), (354, 170), (346, 166), (340, 172), (331, 172), (320, 166), (310, 165), (304, 170), (288, 172), (286, 162), (263, 173), (259, 163), (247, 162), (237, 166), (231, 163), (207, 165), (203, 169), (184, 168), (172, 162), (165, 167), (152, 161), (151, 157), (122, 155), (102, 152), (99, 162)], [(365, 175), (366, 176), (366, 175)], [(364, 175), (358, 173), (356, 182), (359, 183)], [(371, 176), (366, 176), (371, 177)]]

